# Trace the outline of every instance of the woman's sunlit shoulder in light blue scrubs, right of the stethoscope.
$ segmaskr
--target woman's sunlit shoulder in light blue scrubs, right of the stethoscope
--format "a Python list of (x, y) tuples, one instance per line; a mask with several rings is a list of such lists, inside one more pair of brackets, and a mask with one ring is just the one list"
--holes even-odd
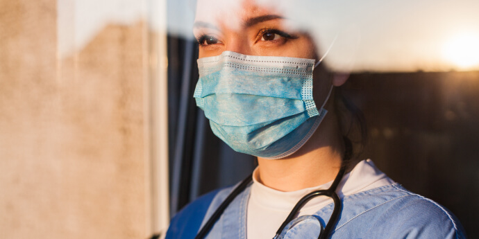
[(345, 197), (344, 212), (347, 220), (338, 224), (338, 232), (363, 227), (368, 238), (465, 238), (460, 222), (444, 206), (398, 184)]

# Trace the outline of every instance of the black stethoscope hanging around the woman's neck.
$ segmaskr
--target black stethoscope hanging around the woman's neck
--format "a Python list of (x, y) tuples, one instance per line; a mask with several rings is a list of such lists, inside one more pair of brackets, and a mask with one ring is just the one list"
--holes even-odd
[[(326, 224), (326, 227), (323, 228), (322, 224), (321, 225), (321, 231), (319, 232), (318, 239), (325, 239), (326, 236), (329, 235), (331, 229), (333, 229), (333, 226), (336, 224), (337, 219), (339, 218), (339, 214), (341, 211), (341, 200), (339, 200), (339, 196), (336, 193), (337, 186), (339, 182), (341, 182), (342, 177), (344, 176), (344, 172), (346, 172), (346, 166), (344, 165), (346, 161), (348, 161), (351, 158), (352, 154), (352, 145), (351, 141), (344, 137), (344, 145), (345, 145), (345, 153), (344, 153), (344, 159), (343, 159), (343, 166), (339, 169), (339, 172), (337, 173), (335, 180), (333, 181), (333, 184), (326, 189), (326, 190), (318, 190), (318, 191), (313, 191), (311, 193), (308, 193), (304, 197), (299, 200), (296, 205), (294, 206), (293, 210), (289, 213), (287, 216), (286, 220), (281, 224), (281, 227), (279, 227), (278, 231), (276, 231), (276, 235), (274, 236), (273, 239), (277, 239), (280, 234), (283, 232), (285, 229), (286, 225), (291, 222), (295, 217), (296, 214), (299, 212), (299, 210), (312, 200), (314, 197), (319, 197), (319, 196), (326, 196), (326, 197), (331, 197), (334, 202), (334, 209), (333, 213), (331, 213), (331, 217), (328, 221), (328, 224)], [(216, 221), (219, 219), (221, 214), (226, 210), (228, 205), (233, 202), (235, 197), (237, 195), (240, 195), (242, 191), (244, 191), (244, 188), (246, 188), (249, 183), (253, 180), (253, 175), (249, 175), (246, 177), (246, 179), (243, 179), (243, 181), (226, 197), (224, 202), (219, 205), (218, 209), (211, 215), (211, 218), (208, 220), (208, 222), (205, 223), (203, 228), (199, 231), (199, 233), (196, 235), (195, 239), (202, 239), (205, 238), (205, 236), (210, 232), (212, 227), (215, 225)], [(318, 219), (319, 220), (319, 219)]]

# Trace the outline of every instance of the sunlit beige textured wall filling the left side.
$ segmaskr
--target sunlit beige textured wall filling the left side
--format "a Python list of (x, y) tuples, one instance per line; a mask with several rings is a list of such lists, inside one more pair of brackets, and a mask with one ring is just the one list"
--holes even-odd
[(56, 0), (0, 0), (0, 238), (146, 238), (147, 27), (58, 57)]

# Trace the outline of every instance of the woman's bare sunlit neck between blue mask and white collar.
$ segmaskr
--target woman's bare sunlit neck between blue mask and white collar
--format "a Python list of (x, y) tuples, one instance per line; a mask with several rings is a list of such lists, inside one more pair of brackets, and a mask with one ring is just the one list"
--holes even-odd
[(260, 182), (278, 191), (297, 191), (335, 179), (341, 167), (344, 143), (332, 113), (328, 112), (308, 142), (289, 157), (258, 157)]

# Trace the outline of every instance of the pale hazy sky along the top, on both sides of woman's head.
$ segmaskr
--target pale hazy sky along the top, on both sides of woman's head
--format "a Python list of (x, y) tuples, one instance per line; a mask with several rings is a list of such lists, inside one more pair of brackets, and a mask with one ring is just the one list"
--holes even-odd
[[(148, 19), (157, 28), (160, 1), (58, 0), (60, 53), (85, 46), (106, 24)], [(338, 71), (479, 70), (477, 0), (274, 0), (274, 4), (313, 33), (323, 51), (334, 42), (325, 61)], [(195, 6), (194, 0), (167, 1), (169, 34), (193, 39)]]

